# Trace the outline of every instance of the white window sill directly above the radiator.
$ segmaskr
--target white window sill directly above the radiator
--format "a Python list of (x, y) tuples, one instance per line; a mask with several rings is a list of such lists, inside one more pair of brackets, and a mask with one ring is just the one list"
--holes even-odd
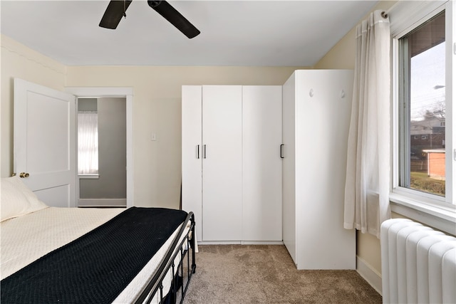
[(391, 211), (432, 228), (456, 235), (456, 210), (452, 206), (428, 204), (400, 193), (390, 194)]

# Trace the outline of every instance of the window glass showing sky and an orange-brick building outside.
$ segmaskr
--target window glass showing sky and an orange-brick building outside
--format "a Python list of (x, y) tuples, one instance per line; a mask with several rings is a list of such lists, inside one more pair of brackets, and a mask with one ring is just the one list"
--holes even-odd
[(399, 43), (400, 186), (445, 196), (445, 11)]

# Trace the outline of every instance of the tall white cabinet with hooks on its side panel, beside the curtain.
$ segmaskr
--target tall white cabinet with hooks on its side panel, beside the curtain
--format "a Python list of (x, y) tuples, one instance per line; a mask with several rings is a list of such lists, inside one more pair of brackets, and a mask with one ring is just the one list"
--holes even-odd
[(283, 86), (283, 239), (298, 269), (355, 269), (343, 229), (353, 71), (296, 70)]

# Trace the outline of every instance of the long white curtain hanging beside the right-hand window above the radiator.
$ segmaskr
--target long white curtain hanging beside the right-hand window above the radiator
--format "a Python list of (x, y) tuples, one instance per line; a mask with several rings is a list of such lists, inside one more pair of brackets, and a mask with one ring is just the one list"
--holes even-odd
[(356, 28), (344, 228), (380, 237), (390, 218), (390, 23), (382, 11)]

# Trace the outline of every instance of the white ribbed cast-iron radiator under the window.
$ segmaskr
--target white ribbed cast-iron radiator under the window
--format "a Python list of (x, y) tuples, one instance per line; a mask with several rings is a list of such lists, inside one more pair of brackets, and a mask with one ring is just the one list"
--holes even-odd
[(410, 219), (380, 228), (383, 303), (456, 303), (456, 238)]

